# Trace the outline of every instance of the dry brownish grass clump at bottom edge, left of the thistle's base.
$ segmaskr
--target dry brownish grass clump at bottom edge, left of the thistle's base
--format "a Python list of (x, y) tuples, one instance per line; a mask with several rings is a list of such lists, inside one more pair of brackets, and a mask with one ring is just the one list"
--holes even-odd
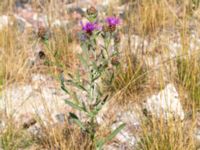
[(45, 149), (63, 150), (92, 150), (94, 147), (89, 141), (89, 137), (84, 135), (77, 127), (68, 124), (53, 126), (42, 126), (42, 136), (35, 137), (35, 142)]

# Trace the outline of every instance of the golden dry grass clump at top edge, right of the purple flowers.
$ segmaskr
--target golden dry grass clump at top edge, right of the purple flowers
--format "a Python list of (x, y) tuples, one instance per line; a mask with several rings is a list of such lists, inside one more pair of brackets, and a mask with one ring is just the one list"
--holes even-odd
[[(159, 33), (167, 26), (175, 23), (174, 12), (165, 0), (132, 0), (130, 10), (127, 12), (128, 23), (134, 32), (146, 36)], [(172, 1), (170, 7), (174, 6)], [(137, 14), (137, 15), (136, 15)]]

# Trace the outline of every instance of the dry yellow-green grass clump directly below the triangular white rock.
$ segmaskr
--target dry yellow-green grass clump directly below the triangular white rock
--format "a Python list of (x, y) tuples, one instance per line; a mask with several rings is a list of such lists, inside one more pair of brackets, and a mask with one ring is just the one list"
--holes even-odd
[(195, 149), (195, 123), (151, 118), (143, 122), (140, 150), (191, 150)]

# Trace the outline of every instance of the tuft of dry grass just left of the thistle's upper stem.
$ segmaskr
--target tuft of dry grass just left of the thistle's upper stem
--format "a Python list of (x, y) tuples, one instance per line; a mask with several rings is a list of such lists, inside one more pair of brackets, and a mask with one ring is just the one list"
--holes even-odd
[(53, 29), (52, 37), (44, 44), (44, 52), (47, 54), (45, 64), (53, 68), (55, 74), (60, 71), (73, 71), (77, 64), (76, 49), (77, 42), (72, 37), (72, 31), (66, 28)]

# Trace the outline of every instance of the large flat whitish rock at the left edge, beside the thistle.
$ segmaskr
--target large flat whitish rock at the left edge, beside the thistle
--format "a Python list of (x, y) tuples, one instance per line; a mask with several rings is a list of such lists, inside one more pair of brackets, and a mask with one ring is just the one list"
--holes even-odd
[[(16, 120), (26, 114), (37, 115), (43, 121), (56, 120), (56, 115), (69, 111), (62, 90), (46, 86), (35, 89), (32, 85), (13, 85), (2, 91), (0, 110), (13, 115)], [(53, 123), (53, 122), (52, 122)]]

